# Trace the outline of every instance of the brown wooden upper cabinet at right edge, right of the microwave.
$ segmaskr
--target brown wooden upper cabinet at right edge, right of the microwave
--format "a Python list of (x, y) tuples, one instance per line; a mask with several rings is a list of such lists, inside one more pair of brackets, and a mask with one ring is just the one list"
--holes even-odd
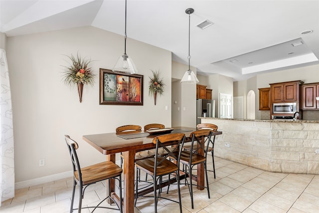
[(302, 85), (302, 109), (314, 110), (319, 109), (319, 83), (304, 84)]

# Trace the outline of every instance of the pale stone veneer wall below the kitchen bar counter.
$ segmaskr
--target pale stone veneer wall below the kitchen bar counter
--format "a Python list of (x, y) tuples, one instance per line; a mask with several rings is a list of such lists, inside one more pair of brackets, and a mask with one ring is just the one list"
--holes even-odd
[(216, 157), (270, 172), (319, 174), (319, 121), (202, 118), (201, 123), (223, 132), (215, 139)]

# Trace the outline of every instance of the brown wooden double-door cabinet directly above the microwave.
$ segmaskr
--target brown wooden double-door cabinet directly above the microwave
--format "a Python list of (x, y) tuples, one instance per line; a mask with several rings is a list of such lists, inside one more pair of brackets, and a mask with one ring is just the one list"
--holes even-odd
[(299, 102), (300, 84), (303, 81), (290, 81), (270, 84), (271, 102)]

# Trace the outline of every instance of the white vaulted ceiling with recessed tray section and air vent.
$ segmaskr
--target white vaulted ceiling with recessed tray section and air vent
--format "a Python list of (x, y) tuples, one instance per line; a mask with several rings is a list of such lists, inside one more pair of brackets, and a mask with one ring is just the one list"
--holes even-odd
[[(188, 64), (189, 7), (190, 65), (199, 74), (243, 80), (319, 64), (319, 0), (128, 0), (127, 35)], [(124, 17), (125, 0), (0, 0), (7, 36), (88, 25), (124, 35)], [(196, 26), (207, 19), (213, 25)]]

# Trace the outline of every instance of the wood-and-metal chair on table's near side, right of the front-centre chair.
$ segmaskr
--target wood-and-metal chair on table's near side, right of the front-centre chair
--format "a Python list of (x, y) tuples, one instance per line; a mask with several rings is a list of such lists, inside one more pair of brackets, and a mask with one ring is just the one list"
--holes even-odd
[[(203, 137), (207, 137), (207, 140), (210, 140), (212, 135), (211, 130), (209, 129), (203, 129), (203, 130), (197, 130), (192, 133), (190, 133), (189, 138), (191, 138), (191, 145), (190, 150), (183, 150), (180, 154), (180, 163), (183, 164), (186, 168), (188, 168), (188, 174), (189, 174), (189, 193), (190, 193), (190, 199), (191, 199), (191, 208), (194, 209), (194, 201), (193, 201), (193, 189), (192, 189), (192, 168), (195, 165), (198, 164), (204, 164), (204, 170), (205, 170), (205, 178), (206, 178), (206, 187), (202, 186), (204, 188), (207, 188), (207, 194), (208, 198), (210, 198), (209, 194), (209, 184), (208, 184), (208, 176), (207, 176), (207, 165), (206, 165), (206, 156), (207, 156), (207, 150), (208, 147), (204, 148), (204, 145), (200, 143)], [(195, 150), (197, 150), (197, 144), (200, 145), (200, 149), (204, 150), (204, 156), (197, 154)], [(183, 145), (182, 145), (183, 147)], [(186, 170), (186, 169), (185, 169)], [(186, 171), (185, 171), (186, 172)], [(185, 179), (186, 183), (186, 179)]]

